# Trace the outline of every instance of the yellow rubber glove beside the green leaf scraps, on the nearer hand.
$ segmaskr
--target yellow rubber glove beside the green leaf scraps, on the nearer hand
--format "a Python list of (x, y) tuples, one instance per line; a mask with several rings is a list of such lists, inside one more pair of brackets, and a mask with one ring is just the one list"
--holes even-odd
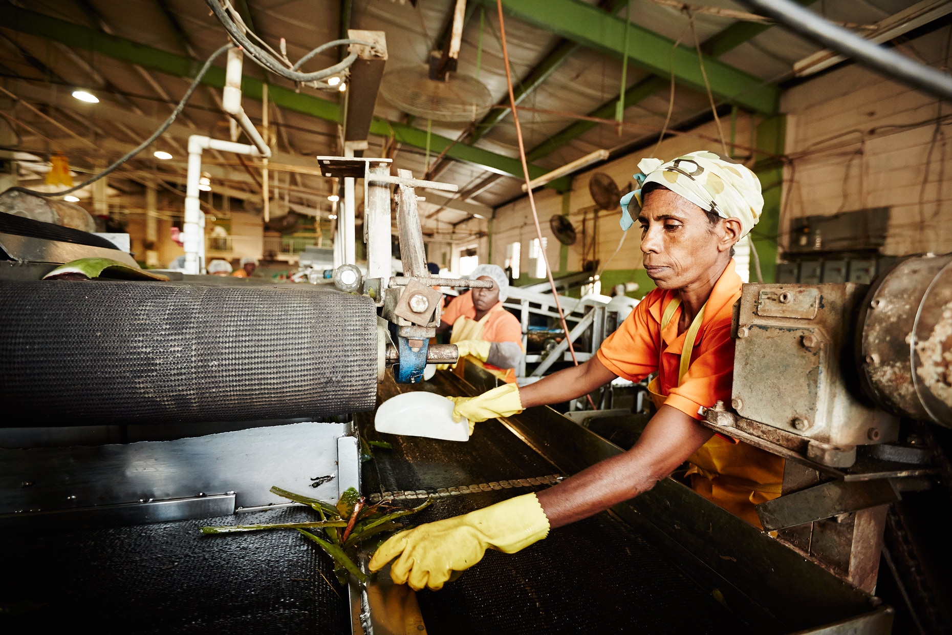
[(439, 590), (453, 571), (465, 571), (483, 559), (487, 548), (515, 553), (548, 535), (548, 518), (535, 494), (402, 531), (377, 549), (370, 570), (397, 558), (390, 578), (419, 591)]

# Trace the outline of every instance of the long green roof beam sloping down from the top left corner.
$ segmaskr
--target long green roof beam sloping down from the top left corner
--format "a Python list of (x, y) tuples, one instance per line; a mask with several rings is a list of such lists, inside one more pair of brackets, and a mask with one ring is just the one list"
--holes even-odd
[[(194, 77), (198, 69), (201, 68), (200, 62), (181, 55), (154, 49), (102, 31), (88, 29), (43, 13), (20, 9), (8, 2), (0, 2), (0, 27), (29, 33), (76, 49), (93, 50), (113, 59), (138, 64), (147, 69), (159, 70), (177, 77)], [(224, 39), (224, 35), (223, 31), (222, 39)], [(205, 77), (202, 78), (202, 82), (215, 88), (223, 88), (225, 86), (225, 69), (211, 67)], [(262, 86), (263, 82), (247, 75), (242, 79), (242, 92), (251, 99), (261, 101)], [(333, 123), (340, 122), (340, 109), (337, 104), (319, 97), (268, 84), (268, 99), (275, 106), (281, 108), (301, 112)], [(426, 130), (416, 129), (406, 124), (388, 122), (379, 117), (375, 117), (370, 125), (370, 132), (376, 135), (388, 136), (391, 130), (397, 141), (415, 148), (426, 149)], [(430, 151), (442, 152), (452, 143), (452, 140), (446, 137), (431, 135)], [(523, 176), (522, 165), (518, 159), (486, 149), (473, 148), (466, 144), (455, 144), (446, 152), (446, 156), (457, 161), (479, 165), (497, 174), (506, 174), (517, 178)], [(529, 177), (536, 178), (547, 171), (538, 166), (529, 166)], [(554, 181), (550, 186), (556, 189), (565, 189), (568, 187), (568, 183), (568, 179), (563, 178)]]

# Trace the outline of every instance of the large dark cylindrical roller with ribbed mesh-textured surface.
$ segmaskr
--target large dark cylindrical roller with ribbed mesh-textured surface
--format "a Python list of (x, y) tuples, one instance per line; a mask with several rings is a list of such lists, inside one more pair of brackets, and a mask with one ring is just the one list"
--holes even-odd
[(371, 408), (369, 298), (309, 285), (0, 281), (7, 426), (311, 417)]

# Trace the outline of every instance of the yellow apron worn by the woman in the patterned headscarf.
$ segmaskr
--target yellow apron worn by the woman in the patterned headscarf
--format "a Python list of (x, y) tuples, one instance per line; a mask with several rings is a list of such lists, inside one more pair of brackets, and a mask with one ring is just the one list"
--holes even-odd
[[(680, 305), (681, 298), (675, 298), (664, 308), (662, 330), (667, 327)], [(691, 364), (694, 340), (703, 321), (704, 307), (698, 311), (684, 335), (678, 386), (684, 380), (684, 374)], [(664, 347), (664, 339), (661, 347)], [(655, 407), (662, 407), (667, 396), (661, 394), (658, 377), (648, 383), (648, 391)], [(781, 494), (783, 458), (757, 447), (714, 436), (688, 457), (687, 462), (690, 467), (686, 475), (691, 477), (691, 488), (694, 491), (753, 526), (761, 526), (754, 506), (775, 499)]]

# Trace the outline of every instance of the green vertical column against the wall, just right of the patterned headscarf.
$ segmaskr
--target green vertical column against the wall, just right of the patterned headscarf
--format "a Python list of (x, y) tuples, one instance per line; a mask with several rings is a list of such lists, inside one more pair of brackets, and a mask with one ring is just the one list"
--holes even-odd
[[(786, 136), (786, 115), (764, 119), (757, 126), (757, 149), (783, 154)], [(780, 207), (783, 201), (783, 162), (767, 157), (754, 164), (754, 173), (761, 180), (764, 191), (764, 212), (760, 223), (750, 232), (754, 247), (761, 257), (764, 282), (777, 280), (777, 251), (780, 237)], [(753, 257), (750, 260), (750, 280), (757, 280)]]

